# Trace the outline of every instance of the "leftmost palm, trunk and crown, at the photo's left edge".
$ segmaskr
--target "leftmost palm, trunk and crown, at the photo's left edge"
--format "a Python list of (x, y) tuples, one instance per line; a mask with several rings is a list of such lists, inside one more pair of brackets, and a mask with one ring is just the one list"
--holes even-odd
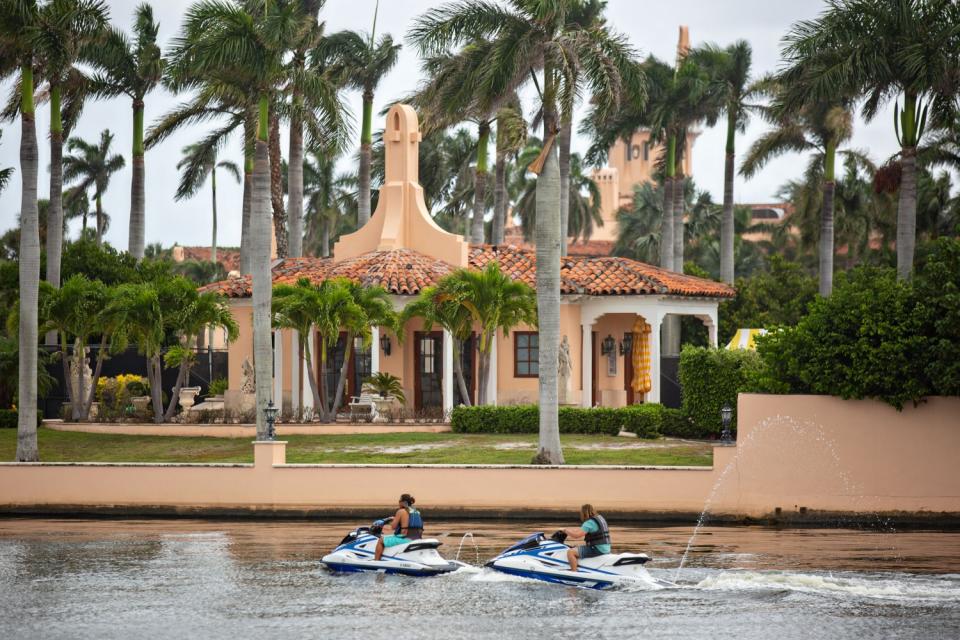
[(32, 32), (36, 0), (0, 4), (0, 77), (20, 71), (20, 313), (17, 460), (39, 459), (37, 449), (37, 331), (40, 232), (37, 212), (37, 127), (34, 122)]

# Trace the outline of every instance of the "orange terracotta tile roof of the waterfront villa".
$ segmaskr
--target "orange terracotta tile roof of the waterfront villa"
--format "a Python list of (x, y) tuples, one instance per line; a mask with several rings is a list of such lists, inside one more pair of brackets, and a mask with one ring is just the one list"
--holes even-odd
[[(513, 245), (474, 245), (470, 248), (470, 266), (482, 269), (499, 262), (511, 278), (534, 286), (536, 254)], [(288, 258), (273, 268), (273, 282), (293, 283), (298, 278), (320, 282), (346, 277), (365, 285), (380, 285), (399, 295), (416, 295), (451, 273), (453, 267), (416, 251), (398, 249), (375, 251), (356, 258), (334, 262), (330, 258)], [(711, 298), (730, 298), (732, 287), (712, 280), (666, 271), (629, 258), (567, 256), (560, 266), (561, 291), (565, 294), (650, 295), (673, 294)], [(219, 291), (230, 298), (251, 295), (250, 276), (230, 278), (202, 287)]]

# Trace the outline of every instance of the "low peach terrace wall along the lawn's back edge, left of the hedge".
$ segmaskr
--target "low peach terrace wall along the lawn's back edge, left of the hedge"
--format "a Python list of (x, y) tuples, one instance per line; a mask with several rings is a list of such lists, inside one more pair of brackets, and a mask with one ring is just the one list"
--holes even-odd
[[(186, 436), (208, 438), (253, 438), (254, 425), (246, 424), (113, 424), (44, 420), (55, 431), (112, 433), (130, 436)], [(358, 433), (447, 433), (448, 424), (278, 424), (279, 436), (340, 436)]]

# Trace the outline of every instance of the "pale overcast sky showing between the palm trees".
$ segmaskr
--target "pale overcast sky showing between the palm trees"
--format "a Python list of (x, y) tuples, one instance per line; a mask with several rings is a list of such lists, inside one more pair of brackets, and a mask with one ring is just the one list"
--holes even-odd
[[(129, 29), (134, 7), (139, 0), (108, 0), (111, 18), (115, 25)], [(164, 45), (177, 34), (181, 17), (191, 0), (155, 0), (156, 18), (160, 22), (160, 41)], [(380, 3), (377, 32), (393, 34), (403, 40), (413, 19), (440, 2), (430, 0), (385, 0)], [(321, 12), (328, 32), (341, 29), (369, 30), (373, 19), (375, 0), (327, 0)], [(726, 45), (737, 39), (746, 39), (753, 46), (754, 73), (773, 71), (779, 65), (780, 39), (790, 25), (797, 20), (811, 18), (823, 7), (822, 0), (670, 0), (652, 2), (646, 0), (608, 0), (609, 22), (627, 34), (631, 43), (642, 56), (649, 53), (672, 60), (676, 51), (677, 27), (690, 27), (694, 46), (703, 42)], [(380, 85), (376, 94), (375, 113), (386, 103), (409, 92), (417, 86), (420, 68), (412, 48), (405, 46), (400, 62)], [(2, 94), (8, 94), (9, 85)], [(359, 118), (360, 96), (347, 94), (347, 103)], [(162, 89), (146, 98), (146, 121), (155, 119), (185, 96), (173, 96)], [(531, 108), (528, 104), (526, 108)], [(871, 124), (857, 122), (853, 146), (869, 152), (874, 161), (889, 157), (896, 147), (889, 114), (881, 114)], [(375, 116), (376, 117), (376, 116)], [(47, 128), (49, 112), (46, 107), (38, 109), (37, 137), (40, 142), (40, 197), (49, 192), (50, 161)], [(374, 122), (375, 128), (382, 124)], [(3, 125), (0, 140), (0, 167), (17, 166), (20, 143), (20, 124)], [(116, 99), (89, 104), (74, 135), (90, 141), (99, 139), (100, 131), (109, 128), (114, 134), (115, 151), (127, 158), (127, 167), (114, 174), (110, 188), (104, 197), (104, 208), (112, 216), (113, 224), (106, 239), (114, 246), (126, 248), (127, 220), (130, 211), (130, 146), (132, 141), (132, 110), (128, 99)], [(764, 130), (765, 125), (754, 122), (746, 135), (737, 140), (738, 154)], [(147, 196), (147, 242), (160, 242), (164, 246), (206, 245), (210, 242), (210, 194), (204, 190), (195, 198), (175, 202), (174, 192), (178, 181), (176, 164), (181, 149), (201, 137), (204, 128), (195, 127), (170, 137), (163, 144), (150, 150), (146, 156)], [(703, 131), (693, 151), (694, 178), (697, 184), (709, 190), (716, 201), (723, 196), (723, 154), (725, 132), (722, 125)], [(583, 152), (588, 141), (578, 138), (574, 151)], [(286, 132), (283, 132), (284, 154), (287, 150)], [(226, 154), (232, 154), (242, 164), (239, 139), (233, 141)], [(225, 155), (226, 155), (225, 154)], [(739, 160), (739, 159), (738, 159)], [(786, 180), (797, 176), (805, 159), (799, 155), (785, 156), (771, 162), (759, 175), (750, 181), (737, 178), (736, 199), (738, 202), (768, 202), (777, 188)], [(240, 243), (241, 188), (227, 176), (218, 180), (219, 194), (219, 244)], [(0, 230), (16, 224), (20, 209), (20, 176), (16, 174), (11, 184), (0, 196)], [(71, 227), (75, 236), (79, 223)]]

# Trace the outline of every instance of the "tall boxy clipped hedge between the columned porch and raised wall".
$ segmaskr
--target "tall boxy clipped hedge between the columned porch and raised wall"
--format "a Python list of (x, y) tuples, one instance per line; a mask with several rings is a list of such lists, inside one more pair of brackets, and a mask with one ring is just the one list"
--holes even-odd
[[(680, 353), (680, 386), (683, 415), (693, 424), (689, 428), (696, 433), (719, 433), (724, 405), (733, 408), (735, 427), (737, 394), (752, 390), (759, 366), (759, 356), (753, 351), (684, 347)], [(679, 423), (675, 426), (687, 428)]]

